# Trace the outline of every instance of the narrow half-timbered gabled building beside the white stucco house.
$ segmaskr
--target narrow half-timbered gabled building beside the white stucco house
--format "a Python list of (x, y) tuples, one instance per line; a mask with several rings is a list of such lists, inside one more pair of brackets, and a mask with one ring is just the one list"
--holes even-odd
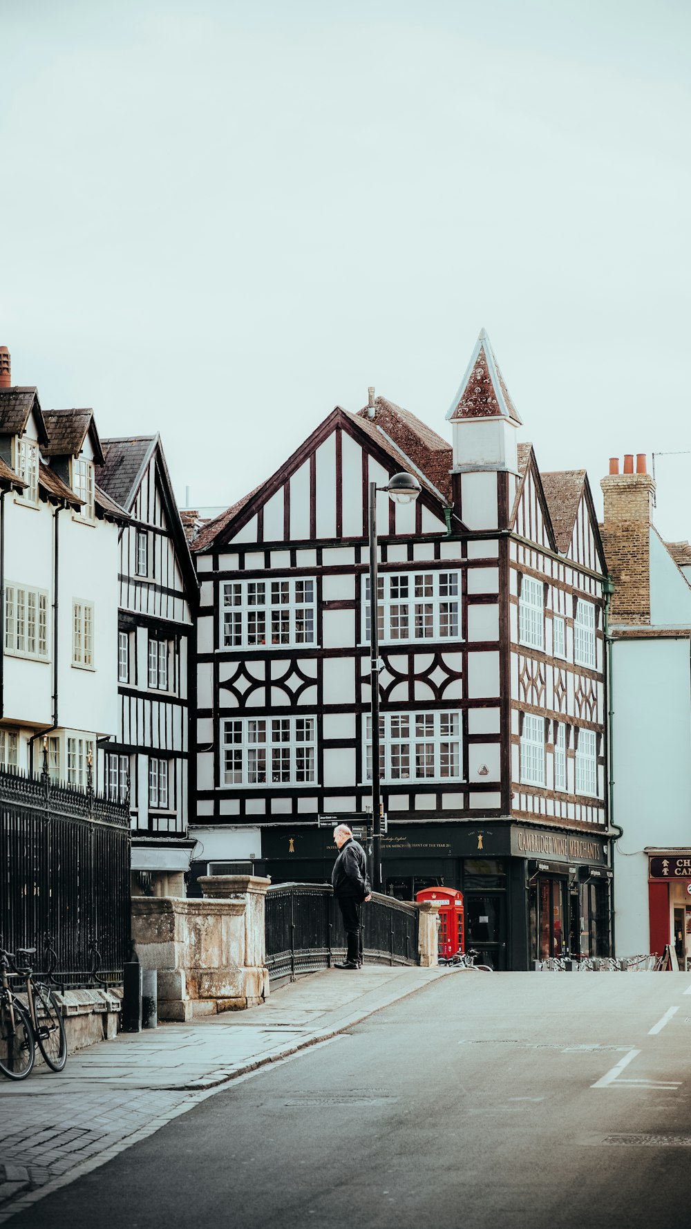
[(108, 788), (130, 784), (133, 891), (184, 895), (198, 584), (159, 435), (103, 441), (101, 482), (129, 514), (119, 537), (118, 731)]

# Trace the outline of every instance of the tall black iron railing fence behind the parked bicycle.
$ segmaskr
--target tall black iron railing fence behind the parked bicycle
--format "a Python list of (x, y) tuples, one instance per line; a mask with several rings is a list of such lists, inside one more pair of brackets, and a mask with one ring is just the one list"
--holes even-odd
[(122, 981), (129, 956), (129, 801), (0, 769), (0, 943), (36, 948), (63, 986)]

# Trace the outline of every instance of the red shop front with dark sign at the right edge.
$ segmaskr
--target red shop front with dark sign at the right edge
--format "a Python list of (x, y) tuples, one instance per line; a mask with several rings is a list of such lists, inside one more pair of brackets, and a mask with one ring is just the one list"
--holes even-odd
[(646, 849), (650, 951), (674, 948), (679, 967), (691, 968), (691, 849)]

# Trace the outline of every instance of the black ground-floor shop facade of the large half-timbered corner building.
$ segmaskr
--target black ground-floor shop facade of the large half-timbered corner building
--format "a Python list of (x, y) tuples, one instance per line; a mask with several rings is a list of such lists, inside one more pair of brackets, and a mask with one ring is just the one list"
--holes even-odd
[[(334, 858), (328, 830), (262, 828), (262, 869), (274, 884), (328, 881)], [(478, 961), (493, 968), (611, 955), (612, 871), (604, 837), (509, 821), (390, 820), (381, 860), (385, 891), (398, 900), (414, 900), (423, 887), (460, 889), (466, 948), (477, 949)]]

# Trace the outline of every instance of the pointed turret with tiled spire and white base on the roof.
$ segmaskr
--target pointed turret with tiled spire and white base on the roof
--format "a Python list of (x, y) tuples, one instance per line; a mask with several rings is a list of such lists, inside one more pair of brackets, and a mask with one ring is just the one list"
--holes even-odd
[[(505, 478), (497, 485), (498, 479), (489, 474), (518, 476), (516, 430), (523, 424), (484, 329), (480, 331), (446, 419), (454, 431), (451, 473), (464, 508), (462, 520), (473, 528), (504, 525), (515, 478), (505, 488)], [(471, 479), (471, 474), (477, 477)]]

